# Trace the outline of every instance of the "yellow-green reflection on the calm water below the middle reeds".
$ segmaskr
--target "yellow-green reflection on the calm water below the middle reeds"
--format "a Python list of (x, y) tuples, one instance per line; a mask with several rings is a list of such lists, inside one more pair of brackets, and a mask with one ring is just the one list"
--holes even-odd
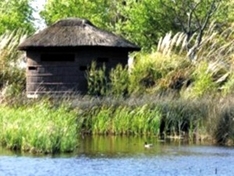
[[(152, 150), (144, 148), (146, 140), (154, 144)], [(85, 137), (81, 141), (78, 153), (89, 157), (128, 157), (162, 152), (161, 145), (154, 138), (91, 136)]]

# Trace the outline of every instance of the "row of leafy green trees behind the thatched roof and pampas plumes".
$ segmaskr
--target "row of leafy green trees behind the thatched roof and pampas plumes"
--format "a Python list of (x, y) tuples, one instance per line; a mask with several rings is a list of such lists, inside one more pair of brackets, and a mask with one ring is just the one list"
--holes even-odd
[(233, 0), (48, 0), (41, 16), (47, 25), (66, 17), (86, 18), (149, 50), (169, 31), (185, 32), (188, 41), (197, 33), (199, 44), (212, 20), (224, 22), (230, 17), (231, 3)]

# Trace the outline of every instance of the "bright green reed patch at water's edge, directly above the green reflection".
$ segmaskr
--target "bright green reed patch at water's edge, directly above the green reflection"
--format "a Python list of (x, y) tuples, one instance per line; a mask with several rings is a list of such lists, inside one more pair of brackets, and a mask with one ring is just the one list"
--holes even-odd
[(95, 107), (88, 110), (89, 113), (81, 115), (87, 128), (92, 134), (158, 134), (160, 126), (160, 113), (157, 108), (148, 105), (128, 107), (124, 105)]

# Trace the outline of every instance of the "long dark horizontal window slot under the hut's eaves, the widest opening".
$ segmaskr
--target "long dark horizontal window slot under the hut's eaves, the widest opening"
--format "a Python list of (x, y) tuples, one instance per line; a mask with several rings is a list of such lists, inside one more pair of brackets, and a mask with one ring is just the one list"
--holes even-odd
[(48, 53), (41, 55), (42, 62), (74, 62), (75, 54)]

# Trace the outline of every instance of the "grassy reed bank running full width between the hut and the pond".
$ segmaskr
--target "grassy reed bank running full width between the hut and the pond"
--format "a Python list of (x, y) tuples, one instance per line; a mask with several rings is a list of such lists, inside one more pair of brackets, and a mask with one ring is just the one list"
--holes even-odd
[[(32, 153), (72, 152), (79, 135), (152, 135), (233, 145), (232, 97), (78, 97), (0, 106), (0, 143)], [(19, 105), (19, 106), (18, 106)]]

